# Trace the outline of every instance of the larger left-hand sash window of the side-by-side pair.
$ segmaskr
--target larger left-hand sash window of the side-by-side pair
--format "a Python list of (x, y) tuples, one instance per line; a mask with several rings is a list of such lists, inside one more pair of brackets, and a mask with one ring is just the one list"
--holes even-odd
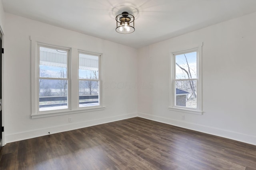
[(69, 50), (38, 44), (39, 111), (68, 109)]

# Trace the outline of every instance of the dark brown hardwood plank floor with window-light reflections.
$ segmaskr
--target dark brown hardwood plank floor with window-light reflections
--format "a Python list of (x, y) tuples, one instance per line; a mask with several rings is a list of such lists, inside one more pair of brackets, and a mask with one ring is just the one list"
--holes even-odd
[(8, 143), (0, 170), (256, 170), (256, 146), (135, 117)]

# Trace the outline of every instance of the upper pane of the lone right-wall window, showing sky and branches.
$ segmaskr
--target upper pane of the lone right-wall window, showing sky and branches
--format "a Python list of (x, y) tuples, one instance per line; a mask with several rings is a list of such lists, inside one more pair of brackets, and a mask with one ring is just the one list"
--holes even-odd
[(176, 79), (197, 78), (196, 52), (175, 55)]

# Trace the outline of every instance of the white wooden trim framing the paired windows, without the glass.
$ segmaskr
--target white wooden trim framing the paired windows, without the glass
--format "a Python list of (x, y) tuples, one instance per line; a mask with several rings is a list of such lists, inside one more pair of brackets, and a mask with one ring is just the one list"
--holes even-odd
[[(102, 100), (102, 61), (103, 57), (101, 53), (91, 53), (100, 55), (99, 61), (99, 74), (100, 74), (100, 94), (99, 96), (99, 106), (89, 106), (89, 107), (79, 107), (79, 95), (78, 95), (78, 51), (85, 50), (78, 50), (73, 47), (67, 47), (68, 45), (52, 45), (56, 44), (56, 42), (48, 43), (48, 40), (37, 38), (30, 36), (31, 40), (31, 118), (40, 118), (40, 117), (50, 117), (56, 115), (66, 115), (66, 114), (73, 114), (73, 113), (83, 113), (89, 111), (98, 111), (104, 110), (105, 107), (103, 106)], [(41, 41), (39, 41), (41, 40)], [(59, 42), (58, 42), (59, 43)], [(46, 47), (57, 47), (58, 49), (69, 49), (69, 61), (68, 61), (68, 74), (69, 74), (69, 86), (68, 86), (68, 109), (57, 109), (57, 110), (50, 110), (50, 111), (39, 111), (39, 88), (38, 88), (38, 44), (45, 45)], [(86, 52), (90, 53), (90, 52)], [(72, 56), (72, 57), (71, 57)], [(72, 69), (74, 68), (74, 69)], [(77, 70), (76, 70), (77, 69)], [(70, 72), (72, 70), (72, 72)], [(74, 71), (76, 70), (76, 71)]]

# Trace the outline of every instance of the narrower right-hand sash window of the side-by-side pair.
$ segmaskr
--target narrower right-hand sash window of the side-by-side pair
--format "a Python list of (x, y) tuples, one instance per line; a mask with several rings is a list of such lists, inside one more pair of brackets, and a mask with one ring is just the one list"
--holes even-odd
[(79, 107), (100, 106), (100, 57), (79, 52)]

